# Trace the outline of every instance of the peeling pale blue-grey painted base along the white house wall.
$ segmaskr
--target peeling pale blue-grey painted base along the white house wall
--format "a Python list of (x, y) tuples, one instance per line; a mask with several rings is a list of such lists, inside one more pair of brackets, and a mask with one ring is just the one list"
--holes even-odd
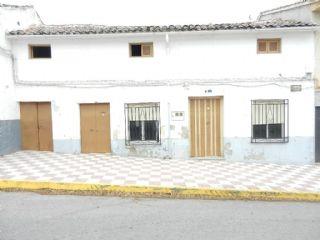
[[(126, 146), (124, 139), (111, 141), (112, 154), (155, 158), (188, 159), (188, 139), (162, 139), (159, 145)], [(54, 151), (80, 153), (80, 140), (54, 140)], [(224, 138), (226, 161), (276, 164), (313, 164), (315, 162), (313, 137), (290, 137), (288, 143), (251, 143), (248, 138)], [(216, 160), (217, 158), (208, 158)], [(221, 159), (221, 158), (218, 158)]]

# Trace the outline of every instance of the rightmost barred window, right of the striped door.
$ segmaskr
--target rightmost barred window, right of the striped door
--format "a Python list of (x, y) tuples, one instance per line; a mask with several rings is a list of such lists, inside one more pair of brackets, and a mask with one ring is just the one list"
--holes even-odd
[(252, 100), (251, 141), (288, 142), (288, 100)]

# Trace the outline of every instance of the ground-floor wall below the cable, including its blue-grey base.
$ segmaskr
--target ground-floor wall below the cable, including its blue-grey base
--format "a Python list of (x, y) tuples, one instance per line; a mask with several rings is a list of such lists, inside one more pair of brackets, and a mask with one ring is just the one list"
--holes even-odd
[[(261, 84), (261, 83), (255, 83)], [(290, 84), (301, 84), (302, 92), (291, 92)], [(189, 96), (223, 96), (223, 144), (239, 140), (240, 150), (233, 149), (233, 157), (226, 159), (245, 160), (246, 156), (261, 144), (251, 144), (251, 100), (253, 99), (289, 99), (289, 143), (267, 144), (263, 151), (265, 161), (283, 163), (312, 163), (314, 136), (314, 97), (313, 82), (284, 82), (281, 86), (266, 85), (254, 87), (226, 86), (174, 86), (174, 87), (112, 87), (91, 89), (70, 89), (59, 87), (18, 87), (17, 101), (51, 101), (53, 118), (53, 138), (55, 142), (65, 141), (67, 152), (80, 151), (80, 103), (109, 102), (111, 115), (112, 151), (115, 154), (126, 154), (118, 148), (118, 142), (124, 144), (125, 116), (124, 104), (136, 102), (160, 102), (161, 108), (161, 148), (170, 149), (167, 140), (174, 142), (171, 157), (189, 157)], [(205, 93), (211, 89), (212, 93)], [(168, 105), (169, 104), (169, 105)], [(170, 111), (169, 109), (170, 108)], [(183, 121), (173, 121), (168, 114), (171, 111), (183, 111)], [(170, 133), (169, 133), (170, 131)], [(303, 139), (302, 143), (296, 143)], [(304, 140), (307, 139), (307, 140)], [(179, 146), (179, 144), (181, 146)], [(278, 150), (274, 150), (276, 147)], [(150, 147), (149, 147), (150, 148)], [(154, 147), (154, 149), (156, 146)], [(182, 149), (181, 151), (179, 149)], [(252, 150), (253, 149), (253, 150)], [(285, 150), (286, 149), (286, 150)], [(56, 151), (61, 150), (55, 146)], [(229, 149), (230, 150), (230, 149)], [(238, 151), (238, 152), (237, 152)], [(281, 153), (282, 151), (282, 153)], [(149, 154), (149, 153), (148, 153)], [(152, 154), (147, 156), (152, 156)], [(163, 156), (158, 155), (158, 157)], [(297, 157), (295, 157), (297, 156)], [(302, 156), (302, 157), (301, 157)]]

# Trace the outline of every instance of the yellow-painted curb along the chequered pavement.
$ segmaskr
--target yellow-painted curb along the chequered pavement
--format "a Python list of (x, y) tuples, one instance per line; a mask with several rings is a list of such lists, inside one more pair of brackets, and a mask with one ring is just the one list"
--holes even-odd
[(58, 183), (15, 180), (0, 180), (0, 190), (31, 191), (45, 194), (71, 194), (92, 196), (112, 195), (182, 199), (230, 199), (258, 201), (320, 202), (320, 193), (116, 186), (92, 183)]

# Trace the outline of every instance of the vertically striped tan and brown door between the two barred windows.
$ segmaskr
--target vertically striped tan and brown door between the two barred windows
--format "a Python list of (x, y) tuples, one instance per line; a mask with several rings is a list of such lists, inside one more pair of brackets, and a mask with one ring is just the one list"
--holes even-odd
[(220, 157), (221, 99), (190, 98), (191, 157)]

